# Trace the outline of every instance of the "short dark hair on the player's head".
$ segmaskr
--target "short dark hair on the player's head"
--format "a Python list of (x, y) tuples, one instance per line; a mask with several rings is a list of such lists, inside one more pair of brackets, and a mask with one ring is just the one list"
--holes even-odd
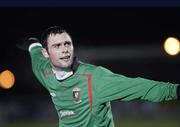
[(44, 48), (47, 49), (47, 39), (49, 35), (51, 34), (61, 34), (61, 33), (67, 33), (66, 30), (61, 26), (51, 26), (44, 30), (44, 32), (41, 35), (41, 44)]

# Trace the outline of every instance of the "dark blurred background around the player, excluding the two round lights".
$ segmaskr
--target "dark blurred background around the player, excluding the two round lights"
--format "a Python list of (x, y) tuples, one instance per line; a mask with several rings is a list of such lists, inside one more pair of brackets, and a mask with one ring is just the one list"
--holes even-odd
[[(16, 48), (25, 36), (40, 38), (50, 26), (71, 34), (79, 59), (129, 77), (180, 83), (180, 55), (164, 42), (180, 39), (180, 7), (0, 7), (0, 71), (15, 85), (0, 88), (0, 127), (58, 127), (49, 93), (36, 80), (27, 52)], [(180, 103), (112, 102), (117, 127), (179, 127)]]

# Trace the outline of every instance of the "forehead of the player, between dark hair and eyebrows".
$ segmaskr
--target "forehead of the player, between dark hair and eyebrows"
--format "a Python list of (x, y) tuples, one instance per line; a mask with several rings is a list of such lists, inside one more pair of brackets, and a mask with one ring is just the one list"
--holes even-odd
[(69, 36), (68, 33), (57, 33), (57, 34), (50, 34), (48, 39), (47, 39), (47, 42), (49, 44), (54, 44), (54, 43), (62, 43), (62, 42), (65, 42), (65, 41), (70, 41), (72, 42), (71, 40), (71, 37)]

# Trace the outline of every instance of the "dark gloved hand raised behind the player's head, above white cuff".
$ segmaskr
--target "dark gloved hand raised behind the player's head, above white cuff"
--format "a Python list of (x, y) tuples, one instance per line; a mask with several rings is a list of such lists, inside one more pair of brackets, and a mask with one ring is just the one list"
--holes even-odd
[(35, 37), (24, 37), (19, 40), (16, 47), (21, 50), (28, 51), (28, 48), (32, 43), (40, 43), (40, 41)]

